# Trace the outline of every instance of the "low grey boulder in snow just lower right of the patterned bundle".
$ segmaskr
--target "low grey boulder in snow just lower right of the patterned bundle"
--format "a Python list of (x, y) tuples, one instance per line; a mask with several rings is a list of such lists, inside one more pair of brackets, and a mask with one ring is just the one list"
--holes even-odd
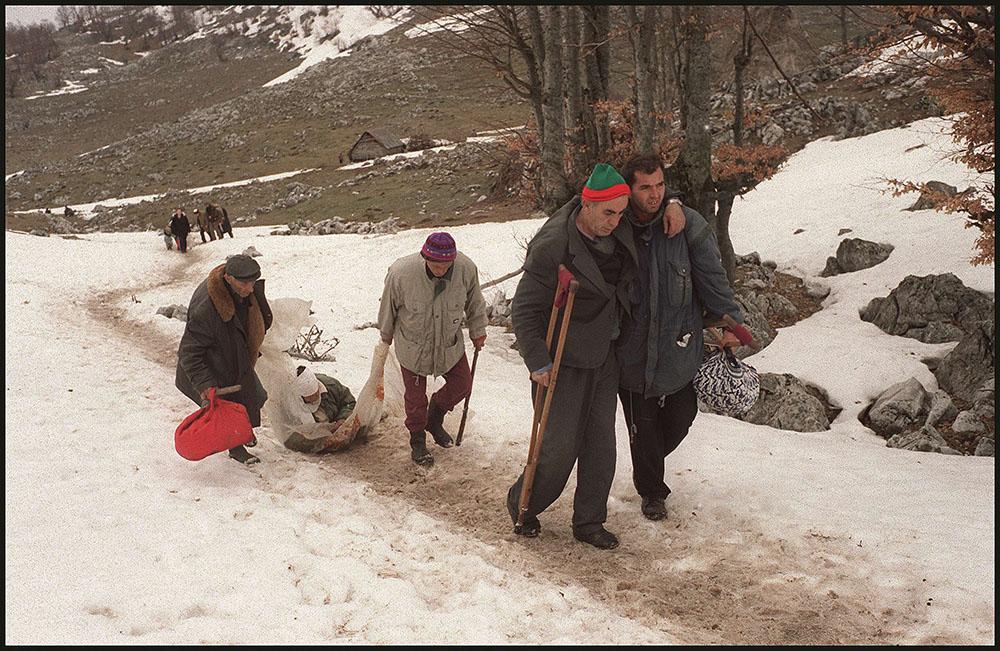
[(760, 374), (760, 397), (743, 420), (795, 432), (830, 429), (826, 405), (802, 380), (788, 373)]

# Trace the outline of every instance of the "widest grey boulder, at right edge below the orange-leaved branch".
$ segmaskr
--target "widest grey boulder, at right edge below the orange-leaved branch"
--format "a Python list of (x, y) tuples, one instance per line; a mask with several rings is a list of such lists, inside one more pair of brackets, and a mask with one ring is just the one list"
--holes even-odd
[(958, 341), (992, 317), (993, 301), (954, 274), (907, 276), (884, 298), (874, 298), (861, 319), (891, 335), (924, 343)]

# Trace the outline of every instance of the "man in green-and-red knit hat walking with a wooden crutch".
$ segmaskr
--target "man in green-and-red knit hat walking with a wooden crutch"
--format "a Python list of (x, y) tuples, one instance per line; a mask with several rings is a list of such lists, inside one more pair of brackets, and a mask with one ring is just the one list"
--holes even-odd
[[(549, 384), (552, 357), (545, 335), (560, 264), (580, 286), (534, 488), (524, 527), (518, 532), (524, 536), (539, 534), (538, 514), (559, 497), (577, 464), (573, 536), (600, 549), (618, 546), (618, 538), (604, 528), (604, 522), (615, 473), (618, 361), (612, 343), (620, 331), (620, 310), (628, 304), (626, 288), (637, 268), (632, 229), (622, 221), (629, 194), (622, 176), (601, 163), (580, 195), (556, 211), (528, 244), (511, 317), (532, 393), (538, 385)], [(523, 483), (522, 474), (507, 493), (514, 522)]]

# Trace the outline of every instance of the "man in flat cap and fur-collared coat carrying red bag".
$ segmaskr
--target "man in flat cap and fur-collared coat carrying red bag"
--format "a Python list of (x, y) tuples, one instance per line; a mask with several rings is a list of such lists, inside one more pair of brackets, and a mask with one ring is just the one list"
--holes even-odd
[[(242, 388), (226, 400), (246, 407), (250, 424), (259, 427), (267, 392), (254, 365), (272, 319), (260, 265), (253, 258), (234, 255), (212, 269), (194, 290), (188, 306), (187, 325), (177, 349), (177, 388), (200, 405), (210, 388), (239, 384)], [(245, 464), (260, 461), (242, 445), (229, 450), (229, 456)]]

